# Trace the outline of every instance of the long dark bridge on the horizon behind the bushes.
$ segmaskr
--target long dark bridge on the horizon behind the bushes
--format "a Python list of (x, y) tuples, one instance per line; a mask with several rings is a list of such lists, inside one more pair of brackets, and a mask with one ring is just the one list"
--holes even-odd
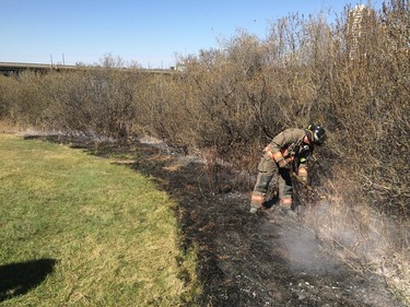
[[(65, 66), (65, 64), (44, 64), (44, 63), (20, 63), (20, 62), (0, 62), (0, 74), (17, 75), (23, 71), (34, 71), (47, 73), (50, 71), (73, 71), (80, 69), (98, 69), (101, 67), (83, 67), (83, 66)], [(121, 71), (131, 71), (128, 68), (115, 68)], [(149, 73), (172, 73), (173, 69), (138, 69), (139, 71)]]

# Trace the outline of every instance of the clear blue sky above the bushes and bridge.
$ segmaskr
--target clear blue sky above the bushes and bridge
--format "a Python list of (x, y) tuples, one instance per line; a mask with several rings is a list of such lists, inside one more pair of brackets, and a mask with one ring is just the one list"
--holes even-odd
[(292, 13), (330, 17), (383, 0), (0, 0), (0, 62), (95, 64), (106, 56), (143, 68), (216, 48), (238, 29), (266, 38)]

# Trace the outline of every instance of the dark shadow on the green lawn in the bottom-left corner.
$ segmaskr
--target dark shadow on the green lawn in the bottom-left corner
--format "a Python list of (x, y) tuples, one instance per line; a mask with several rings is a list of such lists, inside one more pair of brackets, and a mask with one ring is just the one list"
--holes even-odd
[(55, 259), (38, 259), (0, 265), (0, 303), (26, 294), (52, 273)]

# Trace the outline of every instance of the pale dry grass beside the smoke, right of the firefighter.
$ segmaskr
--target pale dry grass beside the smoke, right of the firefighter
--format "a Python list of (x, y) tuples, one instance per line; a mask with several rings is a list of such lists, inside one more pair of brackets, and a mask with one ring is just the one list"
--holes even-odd
[(390, 292), (410, 304), (410, 225), (365, 203), (349, 205), (338, 196), (312, 206), (306, 223), (323, 249), (360, 274), (382, 276)]

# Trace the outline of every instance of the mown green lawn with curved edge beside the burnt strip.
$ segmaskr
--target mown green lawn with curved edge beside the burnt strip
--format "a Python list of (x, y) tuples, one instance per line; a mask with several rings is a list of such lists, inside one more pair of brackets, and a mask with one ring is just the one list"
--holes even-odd
[(196, 253), (149, 178), (16, 135), (0, 155), (1, 306), (194, 305)]

